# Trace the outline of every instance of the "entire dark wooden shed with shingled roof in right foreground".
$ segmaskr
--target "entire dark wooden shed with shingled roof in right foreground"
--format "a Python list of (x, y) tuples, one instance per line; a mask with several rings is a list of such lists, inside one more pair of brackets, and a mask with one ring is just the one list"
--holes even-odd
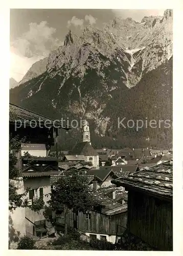
[(127, 229), (157, 250), (173, 249), (173, 162), (113, 180), (128, 191)]

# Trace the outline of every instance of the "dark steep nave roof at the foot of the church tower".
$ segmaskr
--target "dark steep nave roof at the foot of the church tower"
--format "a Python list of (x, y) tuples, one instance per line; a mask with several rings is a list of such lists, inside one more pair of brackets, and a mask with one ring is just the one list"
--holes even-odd
[(71, 155), (84, 155), (84, 156), (98, 156), (98, 153), (94, 150), (93, 146), (89, 142), (79, 142), (72, 150)]

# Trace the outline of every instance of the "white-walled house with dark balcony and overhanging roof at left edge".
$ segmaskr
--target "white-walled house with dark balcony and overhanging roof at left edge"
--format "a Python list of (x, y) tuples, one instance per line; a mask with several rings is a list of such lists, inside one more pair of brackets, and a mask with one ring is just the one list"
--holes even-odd
[[(32, 125), (34, 122), (34, 125)], [(46, 125), (45, 125), (46, 124)], [(37, 199), (47, 203), (51, 193), (51, 175), (59, 173), (58, 159), (48, 157), (49, 150), (55, 144), (58, 129), (70, 130), (62, 122), (54, 121), (48, 117), (39, 115), (19, 106), (9, 104), (9, 132), (12, 137), (25, 138), (25, 143), (17, 154), (17, 165), (20, 177), (17, 193), (22, 194), (29, 187), (30, 190), (25, 197), (28, 207), (18, 207), (9, 211), (9, 242), (13, 242), (14, 233), (20, 236), (39, 236), (35, 231), (35, 222), (44, 220), (43, 210), (35, 212), (31, 207)], [(26, 154), (24, 157), (24, 153)], [(10, 182), (14, 182), (10, 180)]]

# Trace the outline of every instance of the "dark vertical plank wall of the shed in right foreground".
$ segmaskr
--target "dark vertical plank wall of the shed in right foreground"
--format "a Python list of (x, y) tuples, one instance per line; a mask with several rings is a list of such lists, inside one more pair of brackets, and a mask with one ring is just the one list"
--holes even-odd
[(172, 250), (172, 203), (129, 191), (127, 225), (130, 232), (152, 247)]

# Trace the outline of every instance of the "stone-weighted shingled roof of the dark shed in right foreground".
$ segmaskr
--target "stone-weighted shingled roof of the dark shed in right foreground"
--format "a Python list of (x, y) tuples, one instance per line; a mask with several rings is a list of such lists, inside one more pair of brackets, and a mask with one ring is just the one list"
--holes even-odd
[(173, 165), (171, 161), (158, 164), (111, 182), (128, 189), (139, 190), (151, 196), (172, 200)]

